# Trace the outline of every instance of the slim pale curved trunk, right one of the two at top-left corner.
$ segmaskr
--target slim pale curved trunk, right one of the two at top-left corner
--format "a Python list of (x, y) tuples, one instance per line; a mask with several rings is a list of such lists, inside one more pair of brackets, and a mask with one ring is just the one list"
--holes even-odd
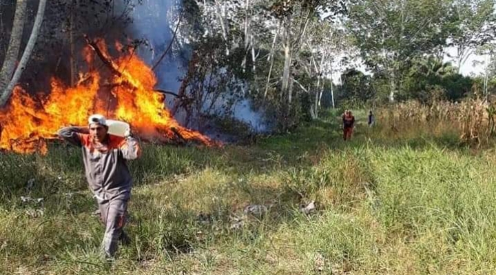
[(37, 16), (34, 19), (34, 25), (30, 34), (30, 39), (28, 40), (28, 44), (24, 49), (23, 56), (21, 57), (21, 61), (19, 62), (19, 65), (17, 66), (17, 69), (14, 72), (14, 77), (12, 77), (6, 90), (4, 90), (3, 94), (0, 96), (0, 107), (5, 105), (6, 102), (8, 101), (10, 94), (14, 89), (14, 85), (16, 85), (17, 81), (19, 81), (19, 78), (21, 78), (21, 73), (24, 70), (25, 65), (28, 64), (28, 61), (31, 56), (31, 52), (34, 48), (34, 44), (36, 43), (38, 38), (39, 30), (41, 28), (41, 23), (43, 22), (43, 16), (45, 14), (45, 6), (46, 6), (46, 0), (40, 0), (38, 5)]

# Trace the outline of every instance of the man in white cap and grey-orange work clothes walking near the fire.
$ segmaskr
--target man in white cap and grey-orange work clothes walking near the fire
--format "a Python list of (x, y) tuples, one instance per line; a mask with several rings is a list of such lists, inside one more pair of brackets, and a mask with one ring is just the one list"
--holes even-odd
[(103, 252), (112, 260), (119, 239), (127, 238), (123, 227), (132, 188), (127, 161), (138, 159), (141, 147), (129, 128), (124, 137), (108, 134), (105, 116), (94, 114), (88, 124), (88, 127), (62, 128), (59, 136), (83, 150), (86, 179), (105, 225)]

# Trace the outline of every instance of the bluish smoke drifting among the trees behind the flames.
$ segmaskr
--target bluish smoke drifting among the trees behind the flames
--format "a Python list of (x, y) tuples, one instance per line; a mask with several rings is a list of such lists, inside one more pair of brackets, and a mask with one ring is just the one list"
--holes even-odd
[[(138, 56), (148, 65), (153, 66), (160, 59), (163, 52), (169, 46), (174, 37), (174, 30), (179, 21), (179, 12), (182, 7), (182, 0), (143, 0), (142, 4), (136, 4), (133, 12), (133, 23), (130, 26), (133, 39), (145, 39), (149, 45), (141, 45), (138, 48)], [(181, 80), (186, 72), (187, 61), (181, 59), (191, 55), (191, 48), (187, 44), (187, 38), (180, 33), (180, 28), (176, 34), (173, 47), (167, 52), (160, 65), (154, 70), (157, 77), (157, 89), (168, 90), (177, 93)], [(167, 105), (172, 103), (172, 96), (166, 96)], [(229, 100), (224, 98), (223, 101)], [(214, 105), (216, 114), (224, 114), (224, 102), (217, 102)], [(255, 112), (251, 108), (251, 103), (247, 99), (242, 99), (234, 103), (234, 119), (243, 121), (256, 132), (267, 131), (267, 125), (263, 122), (262, 114)], [(184, 114), (176, 114), (176, 119), (181, 121)]]

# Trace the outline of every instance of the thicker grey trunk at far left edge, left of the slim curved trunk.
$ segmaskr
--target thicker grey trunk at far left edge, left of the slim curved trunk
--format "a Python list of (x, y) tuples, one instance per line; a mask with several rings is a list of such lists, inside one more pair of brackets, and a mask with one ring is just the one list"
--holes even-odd
[(5, 92), (10, 79), (12, 79), (12, 73), (15, 70), (17, 57), (19, 57), (19, 48), (21, 47), (27, 3), (27, 0), (17, 0), (16, 10), (14, 13), (14, 22), (12, 23), (12, 32), (10, 32), (8, 50), (0, 71), (0, 91), (2, 92)]

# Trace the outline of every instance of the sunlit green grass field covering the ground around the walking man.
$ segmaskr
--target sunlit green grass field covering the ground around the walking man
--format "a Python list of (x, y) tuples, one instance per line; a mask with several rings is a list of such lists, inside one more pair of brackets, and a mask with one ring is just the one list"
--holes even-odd
[(345, 143), (329, 117), (250, 146), (144, 145), (113, 265), (79, 150), (2, 153), (0, 274), (496, 274), (492, 148), (380, 122)]

